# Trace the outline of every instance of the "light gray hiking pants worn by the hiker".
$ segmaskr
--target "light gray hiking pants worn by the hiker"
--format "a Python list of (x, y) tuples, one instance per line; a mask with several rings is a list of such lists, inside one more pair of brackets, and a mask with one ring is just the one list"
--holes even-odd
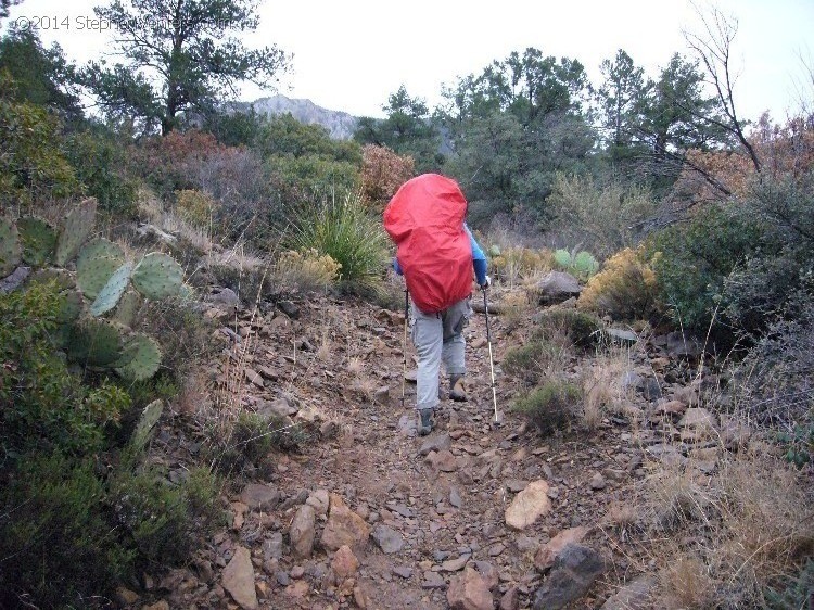
[(471, 316), (469, 298), (458, 301), (438, 314), (424, 314), (410, 301), (411, 338), (418, 352), (417, 409), (432, 409), (438, 405), (442, 361), (449, 376), (467, 371), (462, 332)]

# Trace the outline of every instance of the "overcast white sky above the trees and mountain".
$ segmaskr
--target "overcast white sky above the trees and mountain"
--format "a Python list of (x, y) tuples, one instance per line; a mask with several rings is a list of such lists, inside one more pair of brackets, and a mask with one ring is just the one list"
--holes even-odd
[[(703, 10), (708, 4), (701, 4)], [(68, 59), (84, 63), (110, 50), (110, 33), (79, 29), (105, 0), (24, 0), (4, 25), (41, 18), (46, 45), (59, 42)], [(785, 118), (811, 102), (814, 87), (814, 0), (717, 0), (738, 21), (733, 59), (741, 115), (765, 110)], [(265, 0), (260, 25), (249, 46), (277, 45), (294, 54), (293, 71), (278, 91), (290, 98), (383, 116), (382, 105), (400, 85), (432, 109), (442, 85), (479, 75), (493, 60), (527, 47), (544, 55), (582, 62), (592, 81), (599, 64), (624, 49), (648, 76), (673, 53), (689, 55), (683, 29), (701, 33), (689, 0)], [(245, 87), (243, 99), (272, 94)]]

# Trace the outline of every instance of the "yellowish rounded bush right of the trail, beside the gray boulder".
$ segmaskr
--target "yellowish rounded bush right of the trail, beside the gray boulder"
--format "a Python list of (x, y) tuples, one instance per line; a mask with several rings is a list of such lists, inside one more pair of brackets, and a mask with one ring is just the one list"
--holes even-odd
[(588, 280), (580, 308), (616, 320), (652, 320), (658, 315), (656, 275), (644, 260), (644, 249), (626, 247), (605, 262)]

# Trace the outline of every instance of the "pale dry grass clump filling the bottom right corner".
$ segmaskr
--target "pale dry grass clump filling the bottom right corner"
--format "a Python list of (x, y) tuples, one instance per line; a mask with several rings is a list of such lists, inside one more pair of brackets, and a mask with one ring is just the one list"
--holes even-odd
[(647, 485), (666, 608), (761, 607), (766, 587), (814, 554), (814, 493), (784, 461), (730, 455), (711, 478), (690, 462)]

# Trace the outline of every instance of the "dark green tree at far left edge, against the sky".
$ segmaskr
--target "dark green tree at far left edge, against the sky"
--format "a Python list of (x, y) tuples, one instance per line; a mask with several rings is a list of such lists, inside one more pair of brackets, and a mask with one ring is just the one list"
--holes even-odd
[(82, 111), (76, 86), (76, 67), (59, 45), (42, 47), (34, 29), (12, 27), (0, 39), (0, 72), (14, 79), (21, 102), (44, 106), (66, 123), (77, 123)]

